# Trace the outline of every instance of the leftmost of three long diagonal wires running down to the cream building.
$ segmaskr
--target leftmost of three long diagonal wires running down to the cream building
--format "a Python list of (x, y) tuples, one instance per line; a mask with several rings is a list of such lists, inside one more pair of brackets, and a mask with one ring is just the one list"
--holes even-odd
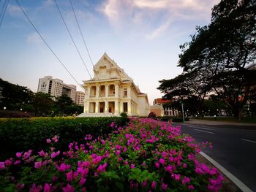
[[(32, 23), (32, 21), (29, 19), (29, 16), (26, 15), (26, 12), (24, 12), (23, 8), (20, 6), (20, 3), (18, 2), (18, 0), (15, 0), (18, 4), (18, 7), (20, 7), (21, 11), (23, 12), (23, 14), (25, 15), (26, 19), (29, 20), (29, 23), (31, 24), (31, 26), (33, 26), (34, 30), (37, 31), (37, 34), (39, 35), (39, 37), (41, 37), (42, 41), (45, 43), (45, 45), (49, 48), (50, 52), (53, 53), (53, 55), (57, 58), (57, 60), (59, 61), (59, 63), (61, 64), (61, 66), (64, 67), (64, 69), (66, 69), (66, 71), (70, 74), (70, 76), (73, 78), (73, 80), (75, 80), (75, 82), (80, 86), (80, 88), (82, 88), (84, 90), (84, 88), (78, 83), (78, 81), (75, 79), (75, 77), (69, 72), (69, 70), (67, 69), (67, 67), (61, 62), (61, 60), (59, 59), (59, 57), (56, 55), (56, 53), (54, 53), (54, 51), (50, 48), (50, 45), (48, 45), (48, 43), (45, 41), (45, 39), (42, 37), (42, 35), (39, 33), (39, 31), (37, 30), (36, 26), (34, 26), (34, 24)], [(86, 93), (86, 92), (85, 92)], [(86, 93), (87, 96), (88, 93)], [(95, 103), (95, 105), (97, 105)]]

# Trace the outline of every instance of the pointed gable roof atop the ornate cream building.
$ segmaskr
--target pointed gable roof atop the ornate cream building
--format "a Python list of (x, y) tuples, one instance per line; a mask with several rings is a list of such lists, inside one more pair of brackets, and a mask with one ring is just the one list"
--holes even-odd
[(121, 79), (123, 81), (132, 81), (132, 78), (121, 69), (107, 53), (104, 53), (97, 64), (94, 65), (93, 80), (102, 79)]

